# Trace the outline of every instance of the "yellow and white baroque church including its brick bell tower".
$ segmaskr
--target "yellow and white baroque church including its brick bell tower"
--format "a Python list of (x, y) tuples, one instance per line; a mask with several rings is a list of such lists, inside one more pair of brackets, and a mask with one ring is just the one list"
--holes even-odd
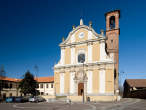
[(56, 96), (72, 101), (114, 101), (118, 95), (120, 11), (105, 14), (106, 31), (96, 33), (89, 26), (73, 26), (60, 43), (61, 58), (54, 65)]

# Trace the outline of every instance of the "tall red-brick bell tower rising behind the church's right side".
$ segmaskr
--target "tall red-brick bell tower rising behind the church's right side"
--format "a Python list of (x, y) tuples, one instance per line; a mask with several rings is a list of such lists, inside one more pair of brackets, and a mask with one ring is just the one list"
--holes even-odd
[(113, 56), (115, 63), (114, 81), (115, 92), (119, 89), (119, 19), (120, 10), (107, 12), (106, 17), (106, 51), (110, 56)]

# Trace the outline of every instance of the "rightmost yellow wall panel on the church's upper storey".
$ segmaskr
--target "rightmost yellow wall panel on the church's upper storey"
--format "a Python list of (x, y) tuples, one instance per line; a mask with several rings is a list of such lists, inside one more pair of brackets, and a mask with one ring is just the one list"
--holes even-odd
[(99, 42), (94, 42), (92, 46), (92, 60), (99, 61), (100, 59), (100, 45)]

